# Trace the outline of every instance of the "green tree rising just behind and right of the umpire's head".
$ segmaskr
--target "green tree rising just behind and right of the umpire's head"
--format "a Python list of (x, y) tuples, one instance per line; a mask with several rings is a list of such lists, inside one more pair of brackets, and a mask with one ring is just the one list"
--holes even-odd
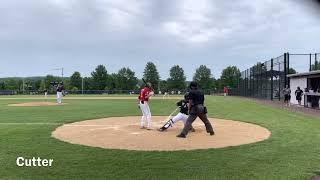
[(214, 86), (214, 78), (211, 74), (211, 70), (205, 65), (201, 65), (196, 69), (193, 81), (196, 81), (203, 90), (210, 90)]

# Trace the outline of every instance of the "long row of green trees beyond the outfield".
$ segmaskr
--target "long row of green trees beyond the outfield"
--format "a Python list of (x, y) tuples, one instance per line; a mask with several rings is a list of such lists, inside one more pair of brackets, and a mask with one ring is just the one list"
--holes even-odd
[[(212, 71), (206, 65), (200, 65), (194, 75), (193, 80), (198, 82), (203, 90), (223, 89), (224, 86), (236, 88), (240, 77), (240, 70), (236, 66), (229, 66), (222, 71), (220, 78), (215, 79)], [(143, 78), (150, 82), (153, 88), (158, 91), (178, 91), (185, 90), (185, 71), (179, 65), (170, 68), (168, 79), (161, 79), (156, 65), (148, 62), (144, 68)], [(77, 90), (139, 90), (143, 85), (135, 72), (128, 67), (121, 68), (117, 73), (108, 73), (106, 66), (98, 65), (90, 77), (82, 77), (80, 72), (74, 72), (70, 77), (63, 79), (58, 76), (47, 75), (45, 77), (30, 78), (3, 78), (0, 79), (0, 90), (29, 90), (43, 91), (52, 88), (51, 82), (64, 82), (65, 88), (71, 91)]]

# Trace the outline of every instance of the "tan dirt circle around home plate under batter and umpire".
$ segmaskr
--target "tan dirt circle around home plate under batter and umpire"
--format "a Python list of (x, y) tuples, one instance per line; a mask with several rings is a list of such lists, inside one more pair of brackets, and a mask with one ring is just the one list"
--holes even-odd
[(176, 138), (183, 127), (179, 122), (166, 132), (159, 128), (166, 117), (153, 117), (153, 130), (140, 129), (140, 117), (111, 117), (65, 124), (52, 132), (52, 136), (72, 144), (106, 149), (143, 151), (176, 151), (238, 146), (268, 139), (271, 132), (258, 125), (239, 121), (210, 119), (216, 135), (206, 133), (203, 123), (196, 120), (196, 132), (186, 139)]

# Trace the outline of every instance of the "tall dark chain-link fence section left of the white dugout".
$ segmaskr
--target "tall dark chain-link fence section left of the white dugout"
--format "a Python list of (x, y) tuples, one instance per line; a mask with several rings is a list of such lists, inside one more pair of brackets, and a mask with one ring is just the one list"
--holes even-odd
[(289, 84), (289, 54), (285, 53), (242, 71), (238, 88), (232, 94), (263, 99), (283, 98), (282, 89)]

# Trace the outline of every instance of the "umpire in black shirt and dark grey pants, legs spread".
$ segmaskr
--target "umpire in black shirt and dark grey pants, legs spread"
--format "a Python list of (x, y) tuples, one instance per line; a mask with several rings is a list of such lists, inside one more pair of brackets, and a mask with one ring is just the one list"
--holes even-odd
[(196, 120), (197, 117), (199, 117), (206, 126), (207, 133), (210, 133), (211, 136), (214, 135), (212, 125), (207, 117), (207, 109), (204, 107), (204, 94), (198, 89), (196, 82), (191, 82), (189, 92), (189, 117), (182, 132), (177, 135), (177, 137), (186, 138), (193, 121)]

